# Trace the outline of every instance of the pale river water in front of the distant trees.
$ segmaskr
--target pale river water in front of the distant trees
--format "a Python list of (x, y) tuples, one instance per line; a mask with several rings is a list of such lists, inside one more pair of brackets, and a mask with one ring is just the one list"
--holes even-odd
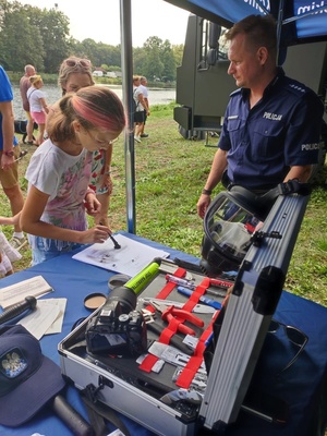
[[(122, 98), (121, 86), (109, 86), (120, 98)], [(61, 92), (57, 85), (44, 85), (43, 92), (46, 94), (46, 99), (48, 105), (52, 105), (61, 97)], [(13, 107), (14, 116), (16, 120), (25, 120), (26, 116), (22, 108), (22, 99), (20, 94), (19, 85), (13, 85)], [(160, 89), (160, 88), (149, 88), (148, 99), (150, 105), (167, 105), (175, 100), (175, 89)]]

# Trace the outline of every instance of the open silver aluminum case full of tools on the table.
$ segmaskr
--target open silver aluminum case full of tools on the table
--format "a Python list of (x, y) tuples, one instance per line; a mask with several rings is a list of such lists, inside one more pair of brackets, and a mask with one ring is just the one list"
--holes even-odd
[[(217, 433), (220, 429), (223, 432), (226, 425), (234, 422), (240, 409), (244, 408), (242, 402), (282, 291), (308, 198), (298, 194), (279, 196), (262, 231), (279, 231), (282, 239), (264, 239), (261, 246), (252, 246), (246, 254), (229, 299), (205, 398), (194, 422), (185, 422), (177, 410), (144, 392), (138, 386), (133, 386), (128, 379), (111, 374), (110, 368), (101, 362), (89, 361), (68, 350), (66, 342), (85, 328), (95, 313), (59, 343), (62, 374), (73, 380), (77, 389), (84, 389), (89, 384), (97, 387), (100, 377), (104, 377), (111, 387), (105, 386), (98, 399), (156, 435), (193, 436), (202, 426)], [(270, 269), (272, 272), (269, 277)], [(267, 272), (268, 282), (270, 280), (272, 283), (268, 287), (268, 291), (272, 288), (272, 294), (268, 292), (267, 295), (262, 289), (263, 270)], [(267, 284), (267, 280), (264, 283)], [(265, 302), (268, 307), (265, 307)], [(255, 304), (258, 307), (254, 308)], [(255, 413), (253, 410), (251, 412)]]

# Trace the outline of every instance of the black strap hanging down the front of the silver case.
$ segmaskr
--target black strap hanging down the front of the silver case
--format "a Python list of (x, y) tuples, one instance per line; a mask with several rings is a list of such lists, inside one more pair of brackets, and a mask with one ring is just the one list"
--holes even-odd
[(81, 391), (82, 400), (86, 407), (86, 411), (94, 428), (95, 436), (106, 436), (108, 435), (108, 428), (106, 426), (105, 420), (113, 424), (119, 428), (125, 436), (130, 436), (130, 432), (120, 420), (117, 413), (109, 408), (109, 405), (104, 404), (96, 398), (97, 392), (101, 389), (96, 388), (94, 385), (87, 385), (85, 389)]

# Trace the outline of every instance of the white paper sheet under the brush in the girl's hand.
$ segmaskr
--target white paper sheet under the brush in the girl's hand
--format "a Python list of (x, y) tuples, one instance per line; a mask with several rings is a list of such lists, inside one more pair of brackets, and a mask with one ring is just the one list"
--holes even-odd
[(168, 257), (164, 250), (153, 249), (122, 234), (114, 235), (121, 249), (116, 250), (110, 238), (102, 244), (93, 244), (73, 256), (74, 259), (96, 265), (110, 271), (136, 276), (155, 257)]

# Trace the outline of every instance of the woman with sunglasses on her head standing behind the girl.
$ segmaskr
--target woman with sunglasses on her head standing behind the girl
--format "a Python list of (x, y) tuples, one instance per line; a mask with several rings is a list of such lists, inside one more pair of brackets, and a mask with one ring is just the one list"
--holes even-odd
[[(92, 63), (88, 59), (70, 57), (65, 59), (59, 69), (58, 84), (62, 95), (76, 93), (78, 89), (94, 85), (92, 75)], [(101, 210), (95, 216), (96, 225), (109, 227), (108, 210), (110, 196), (112, 194), (111, 179), (112, 144), (106, 149), (94, 152), (93, 167), (89, 186), (95, 190), (97, 199), (101, 204)]]

